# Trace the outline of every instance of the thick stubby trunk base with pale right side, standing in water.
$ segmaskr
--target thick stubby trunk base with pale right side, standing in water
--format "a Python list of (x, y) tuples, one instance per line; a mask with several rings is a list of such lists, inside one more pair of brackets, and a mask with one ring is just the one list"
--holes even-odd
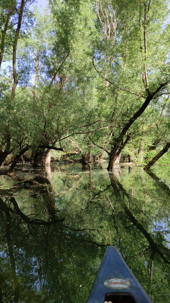
[(50, 165), (51, 161), (51, 149), (37, 150), (34, 154), (33, 167), (45, 167)]

